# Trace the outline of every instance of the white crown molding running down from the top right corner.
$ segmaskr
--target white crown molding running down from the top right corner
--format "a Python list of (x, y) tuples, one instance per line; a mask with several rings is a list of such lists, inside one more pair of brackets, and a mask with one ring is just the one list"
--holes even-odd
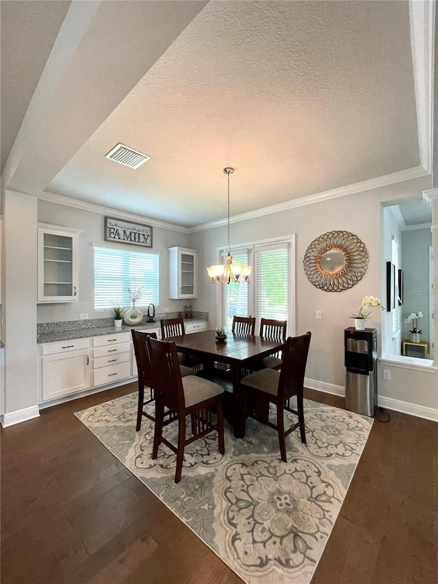
[(420, 164), (430, 173), (433, 156), (435, 1), (410, 0), (409, 23), (411, 25)]

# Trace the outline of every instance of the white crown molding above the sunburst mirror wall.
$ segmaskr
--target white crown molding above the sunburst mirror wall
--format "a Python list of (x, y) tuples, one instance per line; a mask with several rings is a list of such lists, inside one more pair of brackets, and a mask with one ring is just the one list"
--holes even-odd
[[(425, 170), (422, 166), (415, 166), (415, 168), (400, 170), (398, 173), (392, 173), (391, 175), (376, 177), (375, 179), (369, 179), (368, 181), (361, 181), (360, 183), (354, 183), (351, 185), (326, 190), (324, 192), (318, 192), (316, 194), (309, 194), (308, 196), (300, 196), (298, 199), (292, 199), (292, 201), (285, 201), (284, 203), (279, 203), (278, 205), (270, 205), (270, 207), (263, 207), (262, 209), (256, 209), (248, 213), (234, 215), (233, 217), (230, 217), (230, 223), (240, 223), (241, 221), (264, 217), (272, 213), (281, 213), (289, 209), (296, 209), (296, 207), (305, 207), (305, 205), (321, 203), (322, 201), (337, 199), (339, 196), (347, 196), (348, 194), (355, 194), (364, 190), (372, 190), (374, 188), (400, 183), (402, 181), (409, 181), (418, 177), (424, 177), (428, 174), (430, 173), (428, 173), (427, 170)], [(222, 227), (222, 225), (227, 225), (227, 219), (220, 219), (218, 221), (211, 221), (211, 223), (204, 223), (203, 225), (190, 227), (189, 233), (207, 231), (208, 229), (214, 229), (214, 227)]]

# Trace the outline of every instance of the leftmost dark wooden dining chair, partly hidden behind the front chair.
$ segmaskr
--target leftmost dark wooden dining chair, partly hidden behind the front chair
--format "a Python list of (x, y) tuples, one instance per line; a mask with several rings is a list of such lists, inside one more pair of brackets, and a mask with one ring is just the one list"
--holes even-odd
[[(132, 342), (134, 347), (134, 354), (136, 355), (137, 371), (138, 371), (138, 405), (137, 405), (137, 425), (136, 431), (140, 430), (142, 425), (142, 418), (149, 418), (155, 422), (155, 416), (146, 411), (145, 406), (155, 401), (155, 390), (153, 388), (152, 366), (149, 357), (149, 350), (147, 346), (148, 338), (157, 338), (156, 333), (146, 333), (144, 331), (131, 330)], [(188, 375), (196, 375), (196, 371), (190, 367), (183, 365), (179, 366), (181, 377)], [(144, 396), (144, 390), (148, 390), (147, 396)]]

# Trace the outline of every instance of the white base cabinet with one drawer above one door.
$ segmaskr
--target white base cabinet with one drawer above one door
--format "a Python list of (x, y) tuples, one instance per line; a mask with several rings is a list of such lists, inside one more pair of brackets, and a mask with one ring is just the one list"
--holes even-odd
[(42, 346), (42, 399), (49, 400), (88, 390), (90, 340)]

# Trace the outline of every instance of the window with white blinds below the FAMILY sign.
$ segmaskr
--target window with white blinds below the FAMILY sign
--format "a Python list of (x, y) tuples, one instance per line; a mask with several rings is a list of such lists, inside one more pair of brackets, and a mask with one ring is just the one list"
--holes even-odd
[(124, 288), (136, 283), (144, 289), (138, 305), (159, 303), (159, 255), (94, 247), (94, 309), (128, 306)]

